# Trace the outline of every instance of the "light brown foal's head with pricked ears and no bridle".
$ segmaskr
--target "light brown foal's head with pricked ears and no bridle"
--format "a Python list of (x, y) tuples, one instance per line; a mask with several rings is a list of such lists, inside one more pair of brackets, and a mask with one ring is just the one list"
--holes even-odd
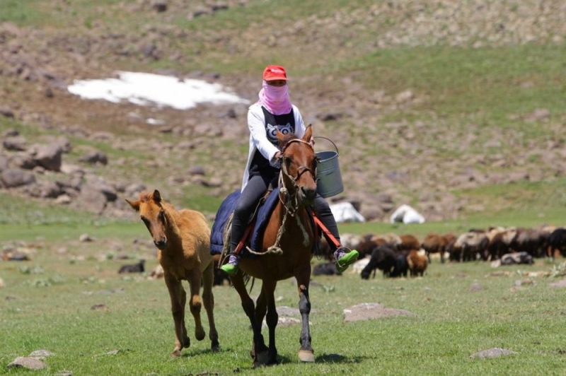
[(151, 237), (154, 238), (156, 247), (158, 247), (158, 249), (164, 249), (167, 245), (167, 218), (159, 191), (156, 189), (151, 193), (141, 192), (139, 199), (135, 201), (126, 200), (126, 202), (132, 206), (135, 211), (139, 211), (141, 221), (144, 221)]

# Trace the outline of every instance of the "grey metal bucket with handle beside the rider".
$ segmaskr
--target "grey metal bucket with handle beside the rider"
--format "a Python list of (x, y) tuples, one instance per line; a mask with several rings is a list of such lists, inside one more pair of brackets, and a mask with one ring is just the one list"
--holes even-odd
[(326, 139), (332, 142), (336, 151), (318, 151), (318, 165), (316, 166), (316, 193), (323, 197), (336, 196), (344, 192), (342, 175), (340, 174), (340, 164), (338, 163), (338, 148), (332, 140), (322, 136), (315, 136), (315, 139)]

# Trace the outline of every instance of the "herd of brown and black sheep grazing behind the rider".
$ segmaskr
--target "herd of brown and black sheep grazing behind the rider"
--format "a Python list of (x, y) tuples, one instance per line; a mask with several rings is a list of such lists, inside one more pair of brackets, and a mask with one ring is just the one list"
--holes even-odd
[[(429, 233), (422, 241), (414, 235), (345, 234), (342, 243), (359, 251), (358, 269), (363, 279), (375, 276), (378, 269), (384, 277), (395, 278), (424, 276), (432, 254), (438, 255), (443, 264), (495, 260), (501, 265), (533, 264), (537, 258), (566, 257), (566, 228), (474, 228), (460, 235)], [(318, 252), (332, 261), (324, 240)]]

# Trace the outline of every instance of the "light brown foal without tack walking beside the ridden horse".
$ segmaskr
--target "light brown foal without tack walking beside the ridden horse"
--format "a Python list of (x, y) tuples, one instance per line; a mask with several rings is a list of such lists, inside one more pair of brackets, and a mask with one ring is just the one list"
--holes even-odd
[(210, 254), (210, 229), (204, 215), (198, 211), (180, 211), (161, 199), (159, 191), (142, 192), (135, 201), (127, 203), (139, 211), (154, 244), (157, 247), (159, 264), (163, 266), (163, 277), (171, 298), (171, 312), (175, 322), (175, 349), (171, 355), (180, 356), (183, 348), (190, 346), (185, 327), (185, 303), (187, 295), (181, 281), (189, 281), (189, 307), (195, 319), (195, 337), (202, 341), (206, 334), (200, 320), (200, 285), (202, 278), (202, 301), (207, 310), (210, 325), (209, 339), (212, 351), (219, 350), (218, 333), (214, 324), (214, 261)]

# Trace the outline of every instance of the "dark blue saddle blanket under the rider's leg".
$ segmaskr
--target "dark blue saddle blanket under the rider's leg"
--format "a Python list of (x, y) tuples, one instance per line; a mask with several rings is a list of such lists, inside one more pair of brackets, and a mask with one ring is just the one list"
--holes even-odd
[[(258, 250), (262, 247), (263, 242), (263, 231), (269, 223), (270, 215), (277, 206), (277, 200), (279, 195), (277, 194), (279, 189), (274, 189), (267, 199), (261, 204), (257, 215), (255, 216), (255, 226), (251, 234), (250, 247), (251, 249)], [(216, 219), (212, 225), (212, 230), (210, 232), (210, 253), (211, 254), (221, 254), (224, 248), (224, 229), (226, 228), (226, 222), (231, 216), (234, 208), (236, 208), (236, 203), (240, 198), (241, 191), (237, 191), (229, 194), (216, 212)], [(239, 240), (238, 240), (239, 241)], [(241, 250), (241, 255), (248, 256), (248, 251), (246, 248)]]

